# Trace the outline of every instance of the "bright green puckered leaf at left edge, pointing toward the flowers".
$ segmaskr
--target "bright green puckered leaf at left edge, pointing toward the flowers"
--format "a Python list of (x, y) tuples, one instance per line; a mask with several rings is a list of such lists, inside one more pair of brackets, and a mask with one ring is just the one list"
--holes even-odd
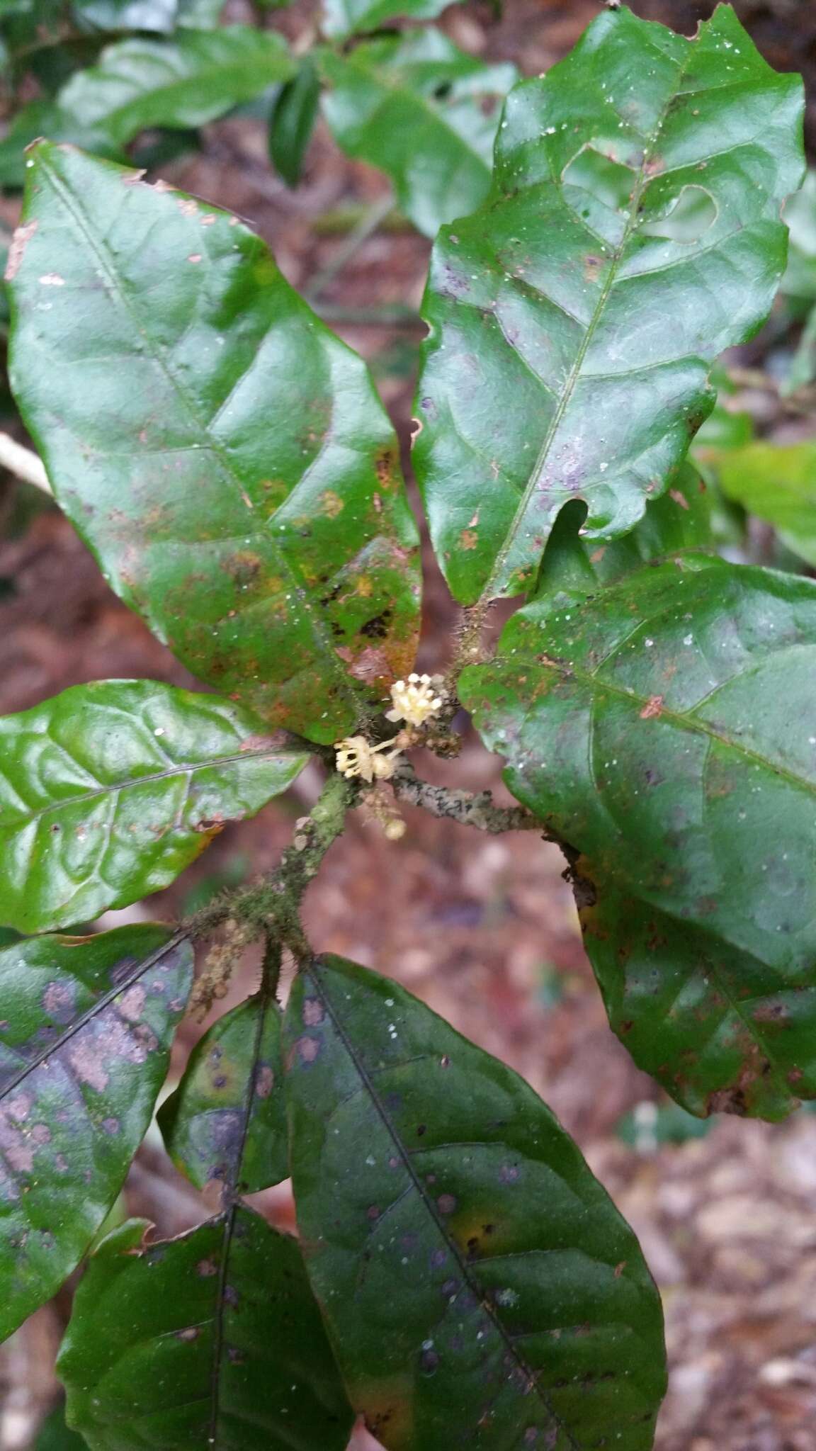
[(45, 932), (167, 887), (308, 756), (155, 681), (73, 685), (0, 718), (0, 920)]

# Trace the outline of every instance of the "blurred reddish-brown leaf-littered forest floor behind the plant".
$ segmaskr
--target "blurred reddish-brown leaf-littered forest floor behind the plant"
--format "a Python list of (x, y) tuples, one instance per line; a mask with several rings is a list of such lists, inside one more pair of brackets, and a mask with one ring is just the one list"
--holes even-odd
[[(595, 0), (507, 0), (452, 9), (446, 29), (465, 49), (544, 71), (598, 13)], [(633, 9), (691, 32), (711, 4), (636, 0)], [(768, 58), (806, 68), (816, 97), (816, 3), (738, 6)], [(242, 17), (235, 0), (235, 19)], [(298, 12), (276, 13), (290, 33)], [(319, 132), (306, 177), (289, 192), (270, 171), (260, 123), (206, 129), (205, 149), (166, 167), (174, 184), (238, 212), (272, 244), (296, 287), (331, 271), (346, 237), (337, 231), (383, 192), (382, 178), (346, 161)], [(7, 221), (15, 203), (1, 203)], [(321, 306), (362, 351), (405, 440), (420, 329), (360, 322), (360, 309), (417, 308), (428, 244), (405, 226), (380, 228), (325, 281)], [(19, 519), (12, 485), (0, 519)], [(456, 609), (428, 553), (421, 666), (446, 663)], [(135, 615), (107, 591), (73, 530), (49, 508), (32, 508), (25, 530), (0, 543), (0, 710), (15, 711), (67, 685), (106, 676), (195, 683)], [(475, 737), (454, 763), (428, 773), (469, 789), (501, 792), (499, 766)], [(167, 917), (240, 872), (270, 868), (293, 818), (314, 801), (317, 768), (289, 798), (254, 821), (227, 829), (181, 882), (150, 898), (145, 916)], [(659, 1451), (816, 1451), (816, 1116), (774, 1127), (717, 1122), (704, 1138), (655, 1145), (648, 1106), (659, 1091), (639, 1074), (607, 1027), (588, 968), (558, 850), (530, 834), (484, 839), (450, 821), (407, 811), (408, 831), (385, 844), (376, 826), (353, 818), (311, 887), (306, 921), (319, 950), (393, 975), (456, 1027), (517, 1068), (575, 1135), (594, 1171), (640, 1236), (666, 1310), (672, 1381)], [(229, 1007), (256, 965), (232, 984)], [(186, 1024), (184, 1052), (200, 1033)], [(179, 1053), (176, 1071), (183, 1061)], [(639, 1107), (640, 1106), (640, 1107)], [(643, 1109), (646, 1106), (646, 1109)], [(637, 1110), (637, 1146), (619, 1132)], [(202, 1217), (152, 1136), (126, 1191), (128, 1210), (177, 1233)], [(260, 1207), (292, 1228), (286, 1187)], [(67, 1294), (38, 1312), (0, 1351), (0, 1451), (25, 1451), (52, 1402), (54, 1352)], [(364, 1432), (357, 1451), (376, 1442)]]

